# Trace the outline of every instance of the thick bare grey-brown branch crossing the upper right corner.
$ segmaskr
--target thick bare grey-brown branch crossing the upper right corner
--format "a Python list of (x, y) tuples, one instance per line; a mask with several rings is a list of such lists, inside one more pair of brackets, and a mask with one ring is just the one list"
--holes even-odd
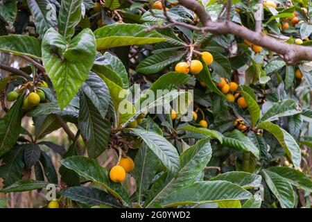
[[(253, 44), (263, 46), (264, 48), (275, 51), (285, 60), (288, 65), (295, 65), (302, 60), (312, 61), (312, 47), (300, 46), (296, 44), (288, 44), (275, 40), (263, 33), (257, 33), (251, 31), (248, 28), (235, 24), (234, 22), (212, 22), (207, 16), (205, 9), (195, 0), (178, 0), (182, 6), (194, 10), (200, 22), (202, 22), (203, 28), (193, 26), (193, 30), (196, 31), (209, 31), (216, 35), (233, 34), (239, 36)], [(199, 7), (200, 6), (200, 7)]]

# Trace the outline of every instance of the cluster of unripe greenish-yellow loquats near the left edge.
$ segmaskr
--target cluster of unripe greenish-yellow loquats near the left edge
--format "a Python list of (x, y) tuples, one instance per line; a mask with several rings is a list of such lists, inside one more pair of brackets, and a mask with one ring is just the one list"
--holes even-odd
[[(37, 83), (37, 86), (48, 87), (48, 84), (42, 80)], [(46, 100), (46, 94), (44, 94), (44, 91), (42, 89), (37, 89), (33, 82), (28, 82), (18, 89), (8, 92), (6, 95), (6, 100), (9, 102), (17, 100), (19, 94), (21, 94), (24, 89), (29, 89), (30, 93), (24, 98), (22, 106), (23, 110), (31, 110), (31, 108)]]

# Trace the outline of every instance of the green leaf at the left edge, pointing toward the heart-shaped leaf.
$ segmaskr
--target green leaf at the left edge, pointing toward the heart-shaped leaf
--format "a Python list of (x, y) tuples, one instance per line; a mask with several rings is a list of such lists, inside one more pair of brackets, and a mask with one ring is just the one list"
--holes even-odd
[(41, 59), (40, 41), (28, 35), (0, 36), (0, 50), (10, 52), (17, 56), (22, 55)]

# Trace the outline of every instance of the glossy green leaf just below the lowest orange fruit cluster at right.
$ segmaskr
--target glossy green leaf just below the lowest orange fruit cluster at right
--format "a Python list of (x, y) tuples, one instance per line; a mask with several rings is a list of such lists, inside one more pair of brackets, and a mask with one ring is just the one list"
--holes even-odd
[(233, 130), (226, 132), (223, 137), (223, 145), (234, 148), (237, 151), (251, 152), (255, 157), (259, 157), (259, 149), (241, 131)]

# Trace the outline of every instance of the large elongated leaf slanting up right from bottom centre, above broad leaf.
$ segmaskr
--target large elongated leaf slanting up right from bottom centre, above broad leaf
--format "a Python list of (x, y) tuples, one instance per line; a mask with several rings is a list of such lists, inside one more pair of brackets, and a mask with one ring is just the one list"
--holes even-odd
[(153, 207), (155, 203), (166, 201), (171, 192), (186, 187), (194, 182), (207, 166), (211, 158), (209, 139), (201, 139), (190, 146), (180, 156), (181, 167), (175, 178), (171, 173), (164, 173), (150, 189), (146, 200), (146, 207)]

